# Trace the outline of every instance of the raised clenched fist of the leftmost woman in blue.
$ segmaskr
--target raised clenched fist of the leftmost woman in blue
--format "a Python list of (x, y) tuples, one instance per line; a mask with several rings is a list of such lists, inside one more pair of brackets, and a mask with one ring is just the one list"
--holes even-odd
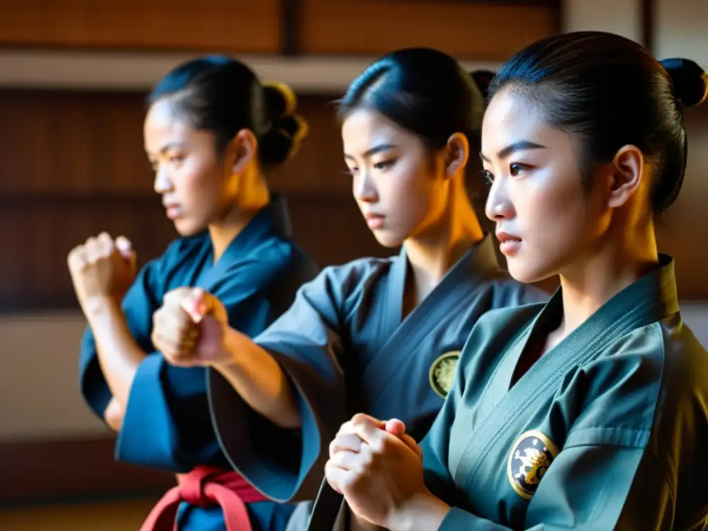
[(89, 302), (119, 302), (135, 281), (136, 261), (132, 244), (123, 236), (113, 241), (108, 233), (89, 238), (72, 249), (67, 258), (74, 292), (86, 314)]

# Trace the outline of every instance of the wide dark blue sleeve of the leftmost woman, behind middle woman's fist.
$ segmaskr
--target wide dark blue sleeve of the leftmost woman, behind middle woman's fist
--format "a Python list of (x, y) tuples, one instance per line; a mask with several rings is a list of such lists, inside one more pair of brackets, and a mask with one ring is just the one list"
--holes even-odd
[[(229, 325), (249, 335), (271, 321), (268, 289), (285, 267), (279, 257), (242, 261), (212, 286), (224, 304)], [(151, 350), (152, 350), (151, 346)], [(130, 388), (116, 458), (171, 472), (208, 463), (217, 451), (207, 399), (204, 367), (173, 367), (151, 351)]]

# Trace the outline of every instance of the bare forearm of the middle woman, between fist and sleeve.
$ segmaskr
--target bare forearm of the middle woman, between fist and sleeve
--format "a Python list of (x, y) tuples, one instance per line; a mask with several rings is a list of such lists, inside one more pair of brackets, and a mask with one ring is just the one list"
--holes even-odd
[(229, 361), (212, 367), (253, 410), (276, 426), (298, 428), (301, 420), (290, 381), (273, 356), (233, 329), (228, 329), (224, 344)]

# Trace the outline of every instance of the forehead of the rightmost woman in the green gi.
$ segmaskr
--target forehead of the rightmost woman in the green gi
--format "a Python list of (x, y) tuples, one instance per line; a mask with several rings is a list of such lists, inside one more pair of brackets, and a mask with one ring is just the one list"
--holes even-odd
[(540, 140), (546, 139), (549, 142), (549, 137), (559, 133), (544, 122), (536, 103), (513, 91), (504, 90), (491, 99), (484, 113), (482, 152), (491, 158), (519, 140), (542, 143)]

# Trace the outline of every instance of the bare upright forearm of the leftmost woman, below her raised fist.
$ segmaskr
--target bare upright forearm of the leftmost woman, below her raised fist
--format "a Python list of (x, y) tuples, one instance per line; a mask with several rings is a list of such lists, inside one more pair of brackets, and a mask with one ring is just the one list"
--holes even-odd
[(118, 302), (96, 299), (84, 313), (96, 341), (98, 365), (105, 382), (120, 411), (125, 411), (133, 378), (147, 354), (133, 339)]

